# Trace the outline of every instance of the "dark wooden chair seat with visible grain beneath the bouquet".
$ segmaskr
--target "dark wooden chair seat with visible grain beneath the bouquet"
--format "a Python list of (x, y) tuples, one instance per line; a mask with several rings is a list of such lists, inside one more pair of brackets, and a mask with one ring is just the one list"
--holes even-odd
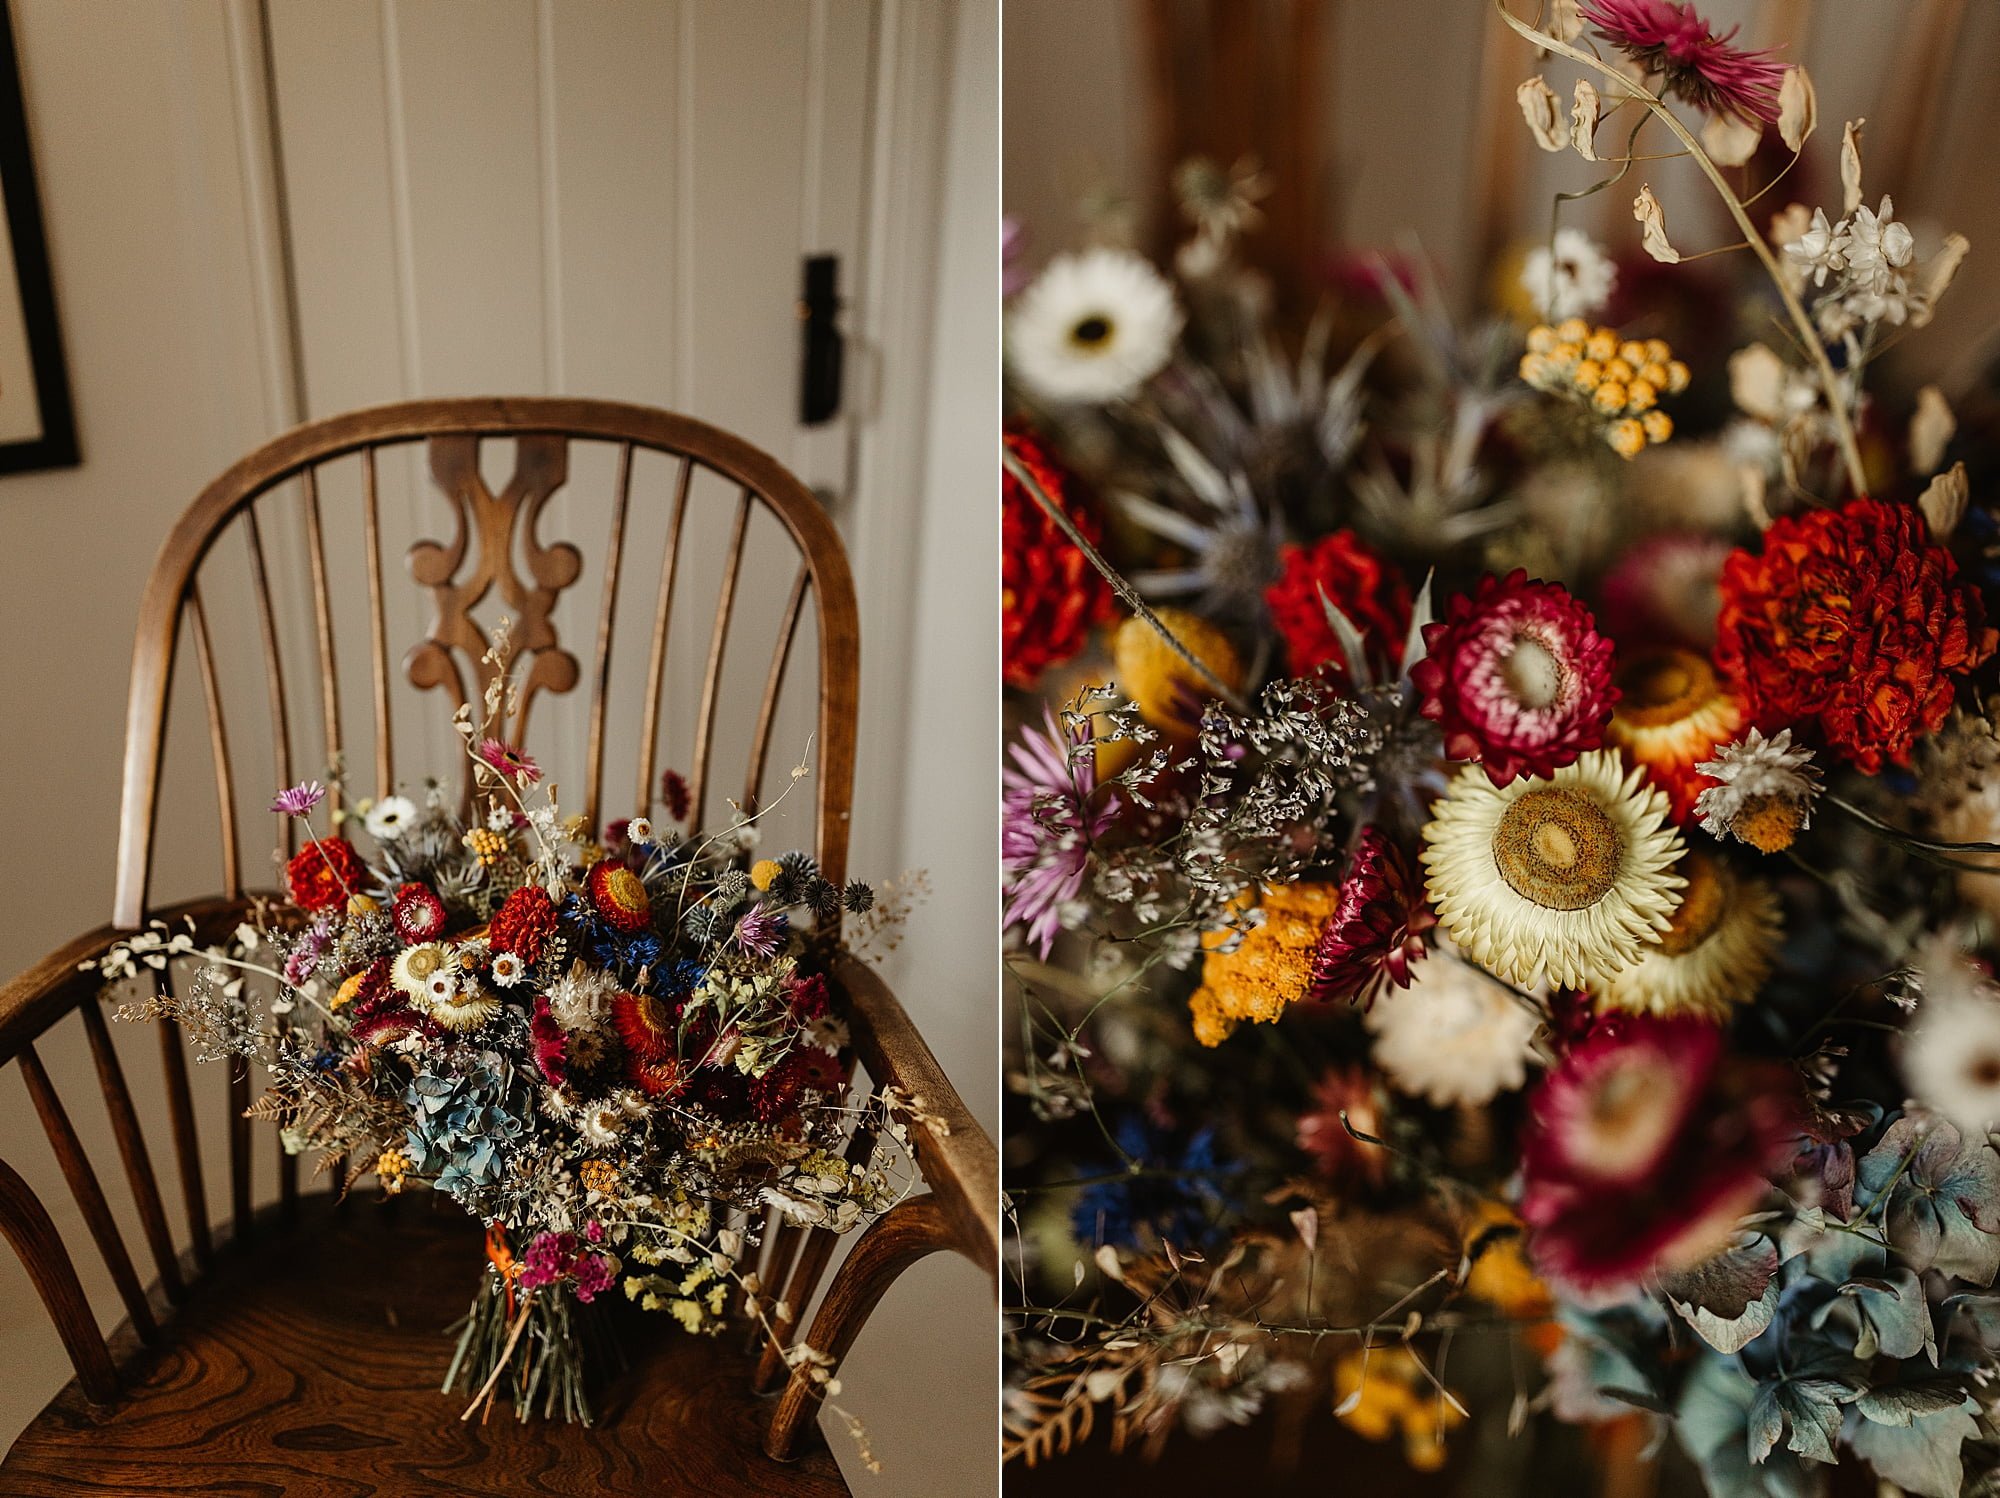
[[(272, 1222), (274, 1220), (264, 1220)], [(796, 1462), (764, 1456), (772, 1402), (742, 1338), (696, 1338), (634, 1312), (632, 1366), (592, 1426), (522, 1424), (496, 1404), (460, 1420), (440, 1394), (446, 1336), (476, 1288), (480, 1228), (448, 1202), (334, 1210), (302, 1196), (214, 1270), (130, 1364), (112, 1408), (72, 1382), (0, 1464), (0, 1494), (846, 1494), (818, 1430)], [(640, 1338), (644, 1336), (644, 1346)]]

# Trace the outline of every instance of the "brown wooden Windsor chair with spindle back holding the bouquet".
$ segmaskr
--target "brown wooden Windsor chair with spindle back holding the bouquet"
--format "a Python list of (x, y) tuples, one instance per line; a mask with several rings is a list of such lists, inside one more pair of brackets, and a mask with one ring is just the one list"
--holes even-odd
[[(514, 442), (512, 480), (494, 492), (482, 476), (480, 444)], [(74, 1380), (16, 1440), (0, 1464), (4, 1494), (88, 1492), (478, 1492), (478, 1494), (836, 1494), (846, 1492), (816, 1426), (816, 1398), (804, 1372), (788, 1374), (776, 1348), (746, 1348), (722, 1338), (690, 1338), (660, 1326), (634, 1366), (614, 1380), (592, 1428), (558, 1422), (520, 1424), (508, 1412), (492, 1422), (460, 1422), (458, 1406), (438, 1394), (448, 1342), (444, 1326), (464, 1304), (478, 1268), (480, 1228), (446, 1202), (436, 1208), (404, 1198), (382, 1210), (372, 1192), (340, 1200), (332, 1190), (302, 1190), (294, 1156), (274, 1150), (276, 1200), (252, 1200), (252, 1128), (244, 1118), (250, 1076), (236, 1068), (226, 1092), (228, 1218), (210, 1222), (194, 1082), (182, 1036), (160, 1024), (166, 1134), (186, 1216), (186, 1252), (168, 1226), (166, 1198), (154, 1172), (158, 1142), (134, 1102), (120, 1048), (100, 1002), (100, 980), (78, 962), (104, 952), (150, 918), (192, 920), (196, 940), (216, 940), (248, 908), (232, 724), (222, 710), (214, 600), (204, 582), (224, 532), (242, 536), (254, 584), (254, 630), (262, 638), (264, 698), (272, 724), (276, 780), (296, 778), (294, 704), (286, 692), (280, 648), (280, 602), (274, 602), (268, 544), (274, 512), (302, 538), (312, 582), (312, 660), (318, 666), (318, 716), (328, 762), (344, 752), (336, 660), (336, 610), (322, 514), (328, 476), (358, 464), (366, 598), (372, 662), (374, 772), (394, 786), (390, 658), (382, 572), (382, 502), (378, 454), (428, 450), (430, 476), (456, 518), (450, 544), (420, 542), (410, 572), (428, 588), (436, 620), (410, 650), (406, 672), (416, 688), (442, 690), (452, 704), (478, 696), (486, 634), (472, 608), (488, 594), (518, 622), (524, 702), (514, 740), (526, 734), (528, 708), (544, 692), (568, 692), (580, 680), (576, 660), (554, 628), (558, 594), (582, 572), (576, 548), (544, 544), (538, 518), (564, 488), (570, 454), (604, 444), (616, 458), (604, 598), (588, 674), (588, 752), (584, 810), (600, 814), (606, 762), (606, 696), (620, 574), (628, 538), (634, 456), (662, 454), (674, 474), (666, 552), (652, 610), (644, 726), (638, 734), (640, 804), (654, 782), (668, 618), (684, 542), (710, 518), (728, 516), (718, 604), (706, 646), (696, 710), (690, 794), (692, 826), (716, 778), (712, 754), (724, 706), (720, 668), (730, 620), (740, 602), (738, 574), (752, 514), (776, 516), (798, 554), (798, 570), (778, 624), (756, 730), (748, 750), (746, 800), (756, 802), (766, 772), (774, 704), (786, 678), (804, 606), (814, 606), (818, 636), (814, 850), (832, 880), (842, 880), (848, 852), (848, 804), (856, 734), (856, 606), (840, 538), (812, 494), (776, 460), (750, 444), (686, 416), (598, 400), (422, 400), (378, 406), (300, 426), (258, 448), (222, 474), (172, 530), (140, 606), (134, 652), (116, 902), (112, 920), (58, 948), (0, 988), (0, 1066), (18, 1062), (62, 1176), (74, 1194), (96, 1252), (118, 1290), (126, 1318), (106, 1338), (98, 1330), (76, 1264), (48, 1210), (24, 1178), (0, 1160), (0, 1232), (28, 1268), (70, 1354)], [(658, 458), (646, 458), (656, 462)], [(718, 484), (734, 502), (710, 504), (694, 480)], [(292, 506), (288, 512), (282, 506)], [(516, 558), (526, 558), (528, 578)], [(204, 602), (208, 612), (204, 612)], [(186, 648), (180, 646), (186, 636)], [(208, 716), (222, 842), (222, 890), (216, 896), (156, 906), (156, 836), (162, 754), (176, 664), (192, 658)], [(294, 662), (296, 664), (296, 662)], [(470, 682), (470, 684), (468, 684)], [(310, 710), (308, 710), (310, 712)], [(150, 974), (176, 982), (176, 968)], [(924, 1100), (912, 1144), (928, 1192), (914, 1194), (854, 1242), (824, 1296), (816, 1290), (836, 1238), (826, 1230), (772, 1226), (764, 1234), (760, 1276), (782, 1288), (796, 1314), (784, 1334), (842, 1358), (890, 1282), (918, 1258), (950, 1248), (996, 1272), (998, 1190), (994, 1150), (944, 1078), (894, 994), (860, 962), (836, 972), (838, 1002), (852, 1032), (854, 1058), (874, 1088), (898, 1086)], [(76, 1016), (88, 1040), (102, 1108), (108, 1110), (144, 1248), (156, 1270), (144, 1286), (116, 1214), (90, 1162), (68, 1104), (58, 1096), (36, 1046)], [(130, 1036), (128, 1036), (130, 1040)], [(130, 1048), (130, 1046), (128, 1046)], [(862, 1082), (858, 1080), (860, 1088)], [(8, 1142), (8, 1152), (18, 1146)], [(868, 1148), (856, 1138), (850, 1158)], [(816, 1300), (816, 1312), (808, 1308)]]

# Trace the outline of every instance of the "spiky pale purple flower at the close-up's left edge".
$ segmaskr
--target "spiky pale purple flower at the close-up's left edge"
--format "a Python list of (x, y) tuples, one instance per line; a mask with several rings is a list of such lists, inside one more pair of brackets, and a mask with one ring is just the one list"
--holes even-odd
[(1046, 958), (1062, 930), (1062, 908), (1084, 888), (1090, 844), (1118, 820), (1120, 802), (1098, 792), (1098, 760), (1088, 722), (1062, 728), (1044, 710), (1048, 730), (1020, 730), (1012, 764), (1000, 772), (1000, 868), (1008, 880), (1006, 924), (1026, 926)]

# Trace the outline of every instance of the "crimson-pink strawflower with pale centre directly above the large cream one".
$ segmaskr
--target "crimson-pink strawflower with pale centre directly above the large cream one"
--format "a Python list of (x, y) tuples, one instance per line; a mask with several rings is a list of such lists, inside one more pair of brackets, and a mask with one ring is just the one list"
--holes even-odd
[(1488, 572), (1424, 626), (1424, 650), (1410, 670), (1424, 716), (1450, 758), (1478, 760), (1496, 786), (1548, 776), (1604, 742), (1618, 700), (1612, 642), (1554, 582)]

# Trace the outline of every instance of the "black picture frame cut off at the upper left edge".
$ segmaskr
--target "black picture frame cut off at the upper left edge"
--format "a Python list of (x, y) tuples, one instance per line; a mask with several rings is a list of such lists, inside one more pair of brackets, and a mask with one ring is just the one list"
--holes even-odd
[(6, 232), (14, 246), (14, 280), (20, 288), (28, 364), (34, 370), (34, 398), (42, 418), (38, 438), (0, 442), (0, 474), (72, 468), (82, 462), (82, 452), (76, 446), (76, 416), (70, 410), (70, 372), (62, 358), (56, 286), (48, 274), (34, 152), (28, 148), (28, 110), (20, 90), (20, 58), (14, 52), (14, 14), (6, 0), (0, 0), (0, 210), (6, 212)]

